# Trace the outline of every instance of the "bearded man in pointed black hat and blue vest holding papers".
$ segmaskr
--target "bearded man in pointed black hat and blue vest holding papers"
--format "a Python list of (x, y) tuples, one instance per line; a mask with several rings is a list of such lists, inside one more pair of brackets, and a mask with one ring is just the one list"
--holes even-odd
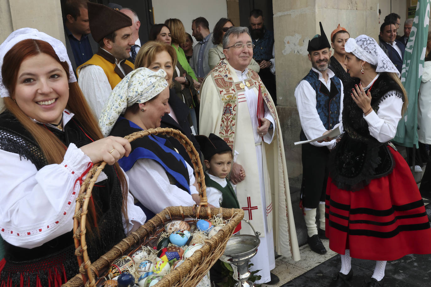
[[(295, 98), (301, 121), (300, 140), (315, 139), (334, 128), (342, 129), (343, 83), (328, 68), (331, 50), (320, 23), (320, 34), (308, 43), (308, 59), (312, 68), (297, 84)], [(342, 131), (342, 130), (341, 130)], [(300, 207), (307, 226), (308, 244), (316, 253), (326, 249), (319, 238), (325, 236), (325, 193), (328, 179), (326, 163), (335, 140), (302, 145), (303, 179)], [(316, 213), (319, 207), (319, 231)]]

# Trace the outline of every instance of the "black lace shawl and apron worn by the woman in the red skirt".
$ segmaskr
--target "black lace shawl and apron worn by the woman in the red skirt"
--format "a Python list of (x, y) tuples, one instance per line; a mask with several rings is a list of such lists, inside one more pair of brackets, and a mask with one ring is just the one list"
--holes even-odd
[[(398, 96), (404, 101), (400, 87), (387, 74), (377, 78), (371, 94), (371, 106), (376, 113), (381, 101), (388, 96)], [(378, 142), (370, 135), (362, 109), (356, 105), (350, 93), (344, 96), (342, 117), (345, 133), (331, 151), (330, 175), (338, 188), (357, 191), (368, 185), (371, 179), (391, 173), (394, 160), (387, 143)]]

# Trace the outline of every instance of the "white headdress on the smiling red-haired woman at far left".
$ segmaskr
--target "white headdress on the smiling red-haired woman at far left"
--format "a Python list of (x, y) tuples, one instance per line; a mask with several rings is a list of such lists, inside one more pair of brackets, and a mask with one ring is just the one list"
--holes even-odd
[(67, 56), (66, 47), (60, 40), (57, 40), (56, 38), (51, 37), (50, 35), (43, 32), (39, 32), (33, 28), (21, 28), (16, 31), (13, 31), (9, 35), (9, 37), (7, 37), (6, 40), (0, 45), (0, 96), (2, 98), (10, 97), (8, 89), (6, 89), (6, 86), (4, 86), (3, 84), (3, 76), (1, 74), (3, 58), (6, 53), (9, 52), (9, 50), (16, 45), (16, 43), (27, 39), (42, 40), (49, 43), (53, 47), (60, 61), (67, 62), (67, 65), (69, 65), (69, 83), (76, 82), (76, 77), (73, 73), (72, 64), (70, 63), (69, 56)]

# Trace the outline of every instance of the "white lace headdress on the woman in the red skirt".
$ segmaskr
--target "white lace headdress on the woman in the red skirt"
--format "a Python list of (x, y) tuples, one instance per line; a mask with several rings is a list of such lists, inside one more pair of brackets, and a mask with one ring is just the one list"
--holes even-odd
[(344, 45), (344, 49), (348, 53), (353, 53), (359, 59), (377, 66), (376, 72), (378, 73), (390, 72), (397, 73), (398, 77), (401, 76), (394, 63), (390, 61), (389, 57), (372, 37), (360, 35), (356, 39), (349, 38)]

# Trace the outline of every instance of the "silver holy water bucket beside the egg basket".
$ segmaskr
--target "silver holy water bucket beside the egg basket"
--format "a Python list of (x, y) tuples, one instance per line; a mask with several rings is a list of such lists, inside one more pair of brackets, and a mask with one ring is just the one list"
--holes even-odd
[(247, 219), (247, 222), (255, 235), (241, 234), (233, 235), (226, 244), (225, 253), (220, 257), (223, 262), (229, 263), (234, 269), (233, 278), (238, 281), (234, 287), (252, 287), (253, 282), (247, 281), (251, 272), (248, 270), (248, 262), (257, 253), (257, 247), (260, 244), (260, 232), (256, 232)]

